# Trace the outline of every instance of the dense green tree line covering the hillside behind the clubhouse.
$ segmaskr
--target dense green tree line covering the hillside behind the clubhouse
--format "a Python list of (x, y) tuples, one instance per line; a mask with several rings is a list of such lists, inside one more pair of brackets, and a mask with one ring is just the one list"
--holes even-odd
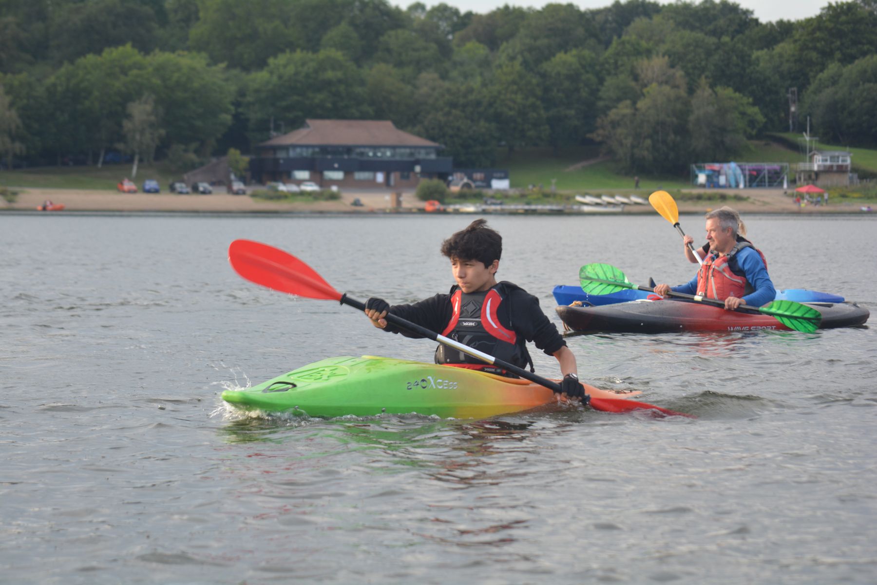
[(459, 166), (597, 142), (631, 173), (798, 117), (877, 146), (877, 0), (762, 23), (721, 0), (486, 14), (387, 0), (0, 0), (0, 156), (182, 167), (305, 118), (390, 119)]

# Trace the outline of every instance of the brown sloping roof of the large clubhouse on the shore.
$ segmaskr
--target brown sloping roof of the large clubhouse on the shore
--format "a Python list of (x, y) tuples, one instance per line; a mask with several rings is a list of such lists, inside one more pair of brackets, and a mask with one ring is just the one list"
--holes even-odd
[(305, 120), (298, 130), (259, 146), (431, 146), (431, 140), (403, 132), (389, 120)]

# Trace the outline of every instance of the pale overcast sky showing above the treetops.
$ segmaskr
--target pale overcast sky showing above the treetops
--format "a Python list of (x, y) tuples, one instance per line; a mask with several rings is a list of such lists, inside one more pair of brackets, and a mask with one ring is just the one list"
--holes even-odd
[[(407, 8), (411, 2), (407, 0), (390, 0), (393, 4)], [(473, 11), (476, 14), (486, 14), (504, 4), (530, 8), (541, 8), (550, 4), (545, 0), (422, 0), (427, 6), (440, 4), (442, 1), (450, 6), (456, 6), (461, 12)], [(568, 0), (557, 0), (559, 4), (567, 4)], [(819, 11), (827, 6), (829, 0), (737, 0), (737, 4), (751, 10), (761, 22), (773, 22), (785, 18), (786, 20), (801, 20), (816, 16)], [(612, 0), (572, 0), (582, 10), (590, 8), (602, 8), (610, 6)], [(660, 4), (671, 4), (661, 1)], [(698, 4), (695, 2), (695, 4)]]

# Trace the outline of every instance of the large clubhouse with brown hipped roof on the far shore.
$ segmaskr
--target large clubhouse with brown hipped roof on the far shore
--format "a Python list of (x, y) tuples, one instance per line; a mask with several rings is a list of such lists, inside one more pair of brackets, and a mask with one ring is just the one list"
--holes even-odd
[(324, 189), (416, 188), (447, 181), (453, 159), (444, 146), (396, 128), (389, 120), (306, 120), (303, 127), (256, 147), (255, 182), (315, 182)]

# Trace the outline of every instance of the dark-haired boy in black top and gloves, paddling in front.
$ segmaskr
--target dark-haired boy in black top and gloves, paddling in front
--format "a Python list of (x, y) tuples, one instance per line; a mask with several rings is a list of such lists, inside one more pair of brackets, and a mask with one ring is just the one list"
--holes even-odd
[[(389, 325), (384, 317), (391, 312), (417, 325), (440, 332), (483, 353), (517, 367), (532, 367), (527, 341), (553, 355), (560, 364), (564, 396), (582, 398), (585, 389), (578, 379), (575, 356), (567, 347), (545, 313), (538, 299), (511, 282), (496, 282), (503, 238), (476, 219), (465, 230), (456, 232), (441, 246), (441, 253), (451, 260), (453, 279), (457, 282), (446, 295), (436, 295), (414, 304), (392, 307), (381, 298), (366, 303), (366, 316), (372, 324), (387, 332), (419, 337)], [(436, 363), (482, 369), (508, 375), (504, 370), (484, 364), (466, 353), (439, 345)]]

